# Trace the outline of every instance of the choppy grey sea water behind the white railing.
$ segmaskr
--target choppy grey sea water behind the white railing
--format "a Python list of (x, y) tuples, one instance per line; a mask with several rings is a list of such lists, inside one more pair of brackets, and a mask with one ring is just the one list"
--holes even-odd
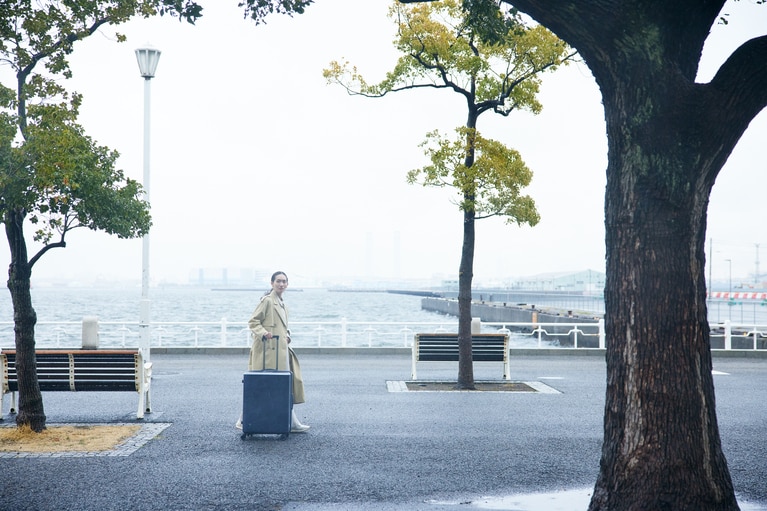
[[(250, 346), (247, 322), (264, 290), (178, 286), (152, 288), (149, 294), (153, 348), (242, 347)], [(457, 318), (422, 310), (418, 296), (289, 289), (284, 297), (298, 347), (402, 347), (416, 332), (457, 328)], [(79, 346), (87, 316), (98, 317), (100, 346), (136, 346), (140, 298), (138, 288), (33, 289), (37, 347)], [(0, 346), (12, 345), (13, 310), (6, 291), (0, 298)]]

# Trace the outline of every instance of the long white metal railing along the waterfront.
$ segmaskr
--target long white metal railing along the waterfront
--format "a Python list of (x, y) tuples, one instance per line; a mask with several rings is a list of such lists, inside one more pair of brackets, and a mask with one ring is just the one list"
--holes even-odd
[[(101, 321), (98, 324), (102, 347), (132, 347), (139, 342), (138, 322)], [(711, 323), (714, 349), (767, 349), (767, 324), (742, 324), (724, 321)], [(81, 344), (82, 322), (39, 322), (36, 344), (39, 348), (72, 347)], [(246, 323), (220, 321), (153, 322), (151, 347), (249, 347), (250, 330)], [(291, 323), (296, 347), (411, 347), (413, 336), (421, 332), (456, 332), (458, 320), (439, 322), (377, 321), (296, 321)], [(590, 323), (512, 323), (483, 322), (483, 332), (508, 332), (512, 347), (548, 348), (557, 345), (574, 348), (604, 348), (604, 320)], [(13, 346), (13, 323), (0, 322), (0, 348)], [(762, 340), (760, 343), (759, 341)]]

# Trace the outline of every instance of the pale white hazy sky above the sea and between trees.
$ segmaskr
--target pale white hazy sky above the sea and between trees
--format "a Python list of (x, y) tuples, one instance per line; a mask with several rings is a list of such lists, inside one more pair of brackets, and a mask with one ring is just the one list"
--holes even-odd
[[(426, 132), (465, 119), (447, 91), (351, 97), (327, 85), (332, 60), (356, 64), (369, 82), (397, 58), (386, 0), (317, 0), (303, 15), (243, 19), (236, 0), (202, 1), (196, 26), (170, 18), (105, 28), (75, 45), (69, 88), (84, 94), (80, 122), (121, 153), (142, 180), (143, 79), (134, 50), (162, 51), (151, 81), (153, 282), (186, 282), (196, 268), (282, 269), (296, 285), (344, 277), (455, 277), (461, 215), (452, 190), (408, 185), (426, 160)], [(224, 6), (222, 4), (228, 4)], [(767, 31), (767, 8), (726, 6), (704, 53), (707, 81), (741, 42)], [(115, 30), (128, 36), (117, 43)], [(485, 114), (485, 136), (520, 151), (534, 172), (534, 228), (499, 219), (477, 224), (475, 281), (546, 272), (604, 270), (604, 113), (585, 65), (544, 78), (540, 115)], [(722, 171), (709, 209), (713, 276), (752, 278), (756, 244), (767, 272), (764, 194), (767, 112)], [(28, 229), (31, 231), (31, 229)], [(34, 278), (134, 279), (141, 241), (77, 230), (46, 254)], [(3, 242), (7, 247), (7, 242)], [(32, 252), (32, 250), (30, 250)], [(8, 250), (0, 250), (7, 266)]]

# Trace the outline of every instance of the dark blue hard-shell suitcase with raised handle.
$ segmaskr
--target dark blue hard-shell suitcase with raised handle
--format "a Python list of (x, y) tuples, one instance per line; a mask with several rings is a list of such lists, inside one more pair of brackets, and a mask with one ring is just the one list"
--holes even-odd
[[(279, 360), (279, 337), (275, 360)], [(264, 362), (266, 343), (264, 340)], [(266, 363), (264, 363), (264, 367)], [(293, 412), (293, 375), (290, 371), (264, 369), (248, 371), (242, 375), (242, 439), (249, 435), (290, 435)]]

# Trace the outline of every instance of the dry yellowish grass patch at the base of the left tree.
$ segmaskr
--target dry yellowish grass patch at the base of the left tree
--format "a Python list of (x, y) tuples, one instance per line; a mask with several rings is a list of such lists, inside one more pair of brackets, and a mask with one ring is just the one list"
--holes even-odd
[(0, 428), (0, 452), (109, 451), (139, 432), (137, 425), (48, 426), (35, 433), (29, 426)]

